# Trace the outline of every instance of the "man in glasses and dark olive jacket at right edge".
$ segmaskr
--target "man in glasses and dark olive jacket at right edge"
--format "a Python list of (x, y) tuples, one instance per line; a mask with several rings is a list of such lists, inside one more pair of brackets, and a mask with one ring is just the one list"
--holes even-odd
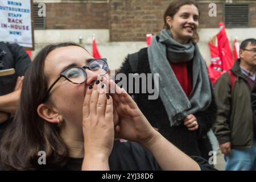
[(256, 117), (251, 105), (255, 71), (256, 40), (246, 39), (240, 59), (215, 85), (218, 114), (213, 131), (225, 155), (226, 170), (256, 170)]

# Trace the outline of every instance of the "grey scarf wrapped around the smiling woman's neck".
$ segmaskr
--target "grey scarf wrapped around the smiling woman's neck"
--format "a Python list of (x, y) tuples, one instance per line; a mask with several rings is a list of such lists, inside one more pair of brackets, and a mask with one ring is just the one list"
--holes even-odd
[[(151, 73), (159, 74), (159, 95), (168, 114), (171, 126), (179, 126), (188, 114), (207, 109), (211, 102), (207, 67), (196, 44), (180, 44), (172, 38), (170, 30), (154, 36), (148, 47)], [(171, 63), (193, 61), (192, 92), (185, 94), (177, 80)]]

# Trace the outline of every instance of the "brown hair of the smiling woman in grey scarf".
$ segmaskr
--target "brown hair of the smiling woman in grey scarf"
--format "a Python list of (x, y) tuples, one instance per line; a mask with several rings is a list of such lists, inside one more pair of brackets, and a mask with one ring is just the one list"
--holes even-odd
[[(170, 30), (170, 26), (166, 22), (166, 17), (171, 16), (171, 18), (174, 18), (174, 15), (179, 11), (181, 6), (184, 5), (194, 5), (197, 7), (197, 10), (199, 11), (199, 17), (200, 17), (200, 10), (197, 6), (196, 2), (194, 0), (173, 0), (170, 5), (167, 7), (165, 13), (164, 13), (164, 28), (167, 30)], [(197, 31), (194, 32), (191, 41), (194, 43), (197, 43), (199, 41), (199, 35)]]

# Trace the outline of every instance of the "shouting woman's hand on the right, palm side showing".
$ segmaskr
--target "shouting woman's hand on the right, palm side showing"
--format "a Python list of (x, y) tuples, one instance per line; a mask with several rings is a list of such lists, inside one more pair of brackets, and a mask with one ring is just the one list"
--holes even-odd
[(119, 123), (115, 126), (117, 137), (141, 143), (151, 142), (158, 133), (144, 117), (133, 98), (124, 90), (119, 88), (114, 81), (110, 81), (110, 88), (115, 89), (112, 93), (115, 109), (119, 115)]

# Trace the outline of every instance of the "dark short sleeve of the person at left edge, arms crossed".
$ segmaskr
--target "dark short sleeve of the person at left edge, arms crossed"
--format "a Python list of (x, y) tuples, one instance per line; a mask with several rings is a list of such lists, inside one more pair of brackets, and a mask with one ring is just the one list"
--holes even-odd
[(16, 74), (18, 76), (24, 76), (27, 68), (31, 64), (30, 57), (28, 56), (27, 52), (24, 51), (24, 49), (18, 44), (9, 44), (9, 48), (13, 53)]

